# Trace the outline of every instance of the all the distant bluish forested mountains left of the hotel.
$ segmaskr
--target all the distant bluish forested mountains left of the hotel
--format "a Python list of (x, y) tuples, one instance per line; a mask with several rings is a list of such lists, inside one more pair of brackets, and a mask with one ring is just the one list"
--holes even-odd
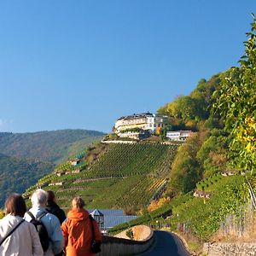
[(57, 163), (104, 135), (100, 131), (81, 129), (0, 132), (0, 207), (7, 195), (23, 193), (40, 177), (52, 172)]

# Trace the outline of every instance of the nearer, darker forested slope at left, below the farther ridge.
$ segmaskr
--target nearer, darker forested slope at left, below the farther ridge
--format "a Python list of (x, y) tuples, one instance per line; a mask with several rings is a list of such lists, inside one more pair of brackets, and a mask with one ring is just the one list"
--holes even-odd
[(38, 178), (51, 172), (53, 164), (38, 160), (19, 160), (0, 154), (0, 207), (9, 193), (23, 193)]

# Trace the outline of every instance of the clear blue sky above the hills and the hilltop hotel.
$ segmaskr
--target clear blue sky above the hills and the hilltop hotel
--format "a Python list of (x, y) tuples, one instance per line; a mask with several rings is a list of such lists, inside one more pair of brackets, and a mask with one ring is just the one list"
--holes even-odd
[(0, 2), (0, 131), (110, 131), (237, 66), (255, 0)]

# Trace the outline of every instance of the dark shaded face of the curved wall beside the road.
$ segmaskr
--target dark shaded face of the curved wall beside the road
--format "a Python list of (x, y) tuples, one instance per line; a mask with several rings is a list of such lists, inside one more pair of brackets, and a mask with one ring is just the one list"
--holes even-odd
[(102, 252), (99, 256), (125, 256), (143, 253), (154, 243), (154, 234), (146, 241), (131, 241), (113, 236), (103, 236)]

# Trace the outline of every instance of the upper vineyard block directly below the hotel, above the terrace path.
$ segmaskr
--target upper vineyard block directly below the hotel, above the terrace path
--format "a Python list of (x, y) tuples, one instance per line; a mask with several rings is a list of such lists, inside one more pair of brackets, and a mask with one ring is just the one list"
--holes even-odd
[(101, 160), (87, 174), (91, 177), (116, 177), (152, 172), (166, 176), (176, 148), (175, 145), (149, 143), (109, 145)]

